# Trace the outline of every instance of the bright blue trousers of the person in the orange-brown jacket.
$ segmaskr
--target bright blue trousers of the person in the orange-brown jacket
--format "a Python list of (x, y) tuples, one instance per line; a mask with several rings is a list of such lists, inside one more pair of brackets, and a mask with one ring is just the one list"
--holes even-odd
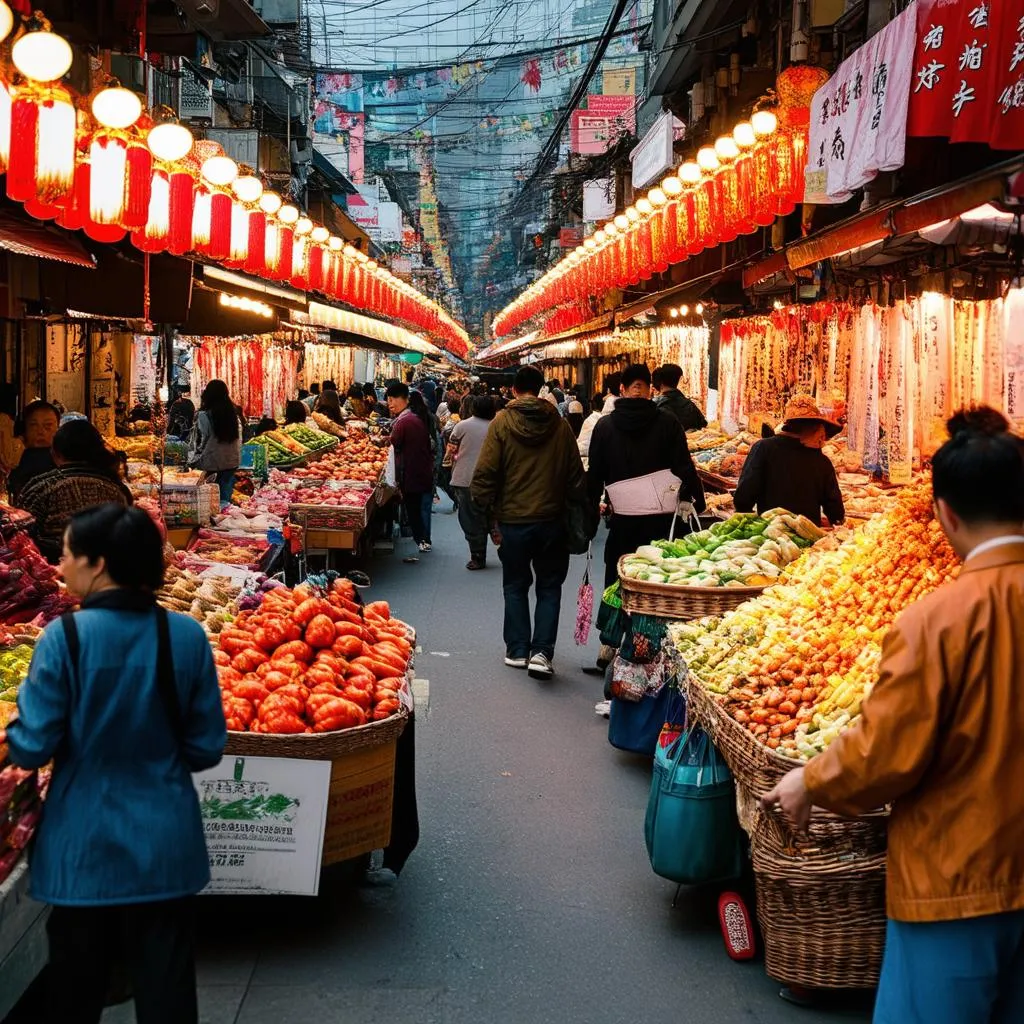
[(873, 1024), (1024, 1021), (1024, 910), (890, 921)]

